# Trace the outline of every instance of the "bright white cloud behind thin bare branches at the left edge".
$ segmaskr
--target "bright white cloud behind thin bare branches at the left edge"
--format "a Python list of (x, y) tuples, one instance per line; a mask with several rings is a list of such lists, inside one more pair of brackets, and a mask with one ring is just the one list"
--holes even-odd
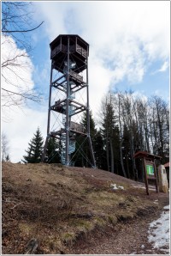
[(32, 61), (26, 50), (16, 46), (10, 36), (2, 35), (2, 84), (5, 88), (20, 92), (21, 89), (32, 89)]

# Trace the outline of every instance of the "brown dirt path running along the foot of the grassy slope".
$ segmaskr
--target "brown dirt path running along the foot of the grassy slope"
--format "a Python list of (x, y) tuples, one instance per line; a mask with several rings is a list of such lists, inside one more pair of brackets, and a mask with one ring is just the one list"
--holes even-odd
[(162, 206), (168, 204), (168, 198), (162, 198), (159, 210), (148, 215), (138, 216), (133, 221), (119, 223), (115, 228), (97, 231), (96, 234), (79, 241), (67, 253), (75, 254), (166, 254), (150, 244), (147, 231), (150, 222), (158, 219)]

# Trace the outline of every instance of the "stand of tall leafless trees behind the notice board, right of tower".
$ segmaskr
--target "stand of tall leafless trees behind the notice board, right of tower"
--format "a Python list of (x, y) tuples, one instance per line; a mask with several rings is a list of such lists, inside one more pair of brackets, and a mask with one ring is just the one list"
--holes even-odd
[[(111, 106), (114, 111), (109, 114), (108, 107)], [(168, 113), (168, 102), (156, 95), (147, 97), (133, 91), (118, 90), (106, 94), (99, 119), (103, 155), (106, 156), (105, 169), (112, 171), (115, 166), (117, 174), (143, 180), (142, 162), (134, 159), (137, 151), (161, 155), (162, 163), (168, 162)], [(119, 140), (115, 136), (115, 129), (113, 130), (115, 127), (118, 127)]]

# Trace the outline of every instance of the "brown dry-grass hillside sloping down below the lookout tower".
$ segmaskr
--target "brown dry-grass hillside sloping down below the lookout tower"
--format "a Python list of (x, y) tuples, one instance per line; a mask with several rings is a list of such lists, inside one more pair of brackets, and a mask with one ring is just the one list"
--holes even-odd
[[(62, 253), (86, 235), (145, 215), (156, 192), (146, 196), (133, 180), (89, 168), (3, 163), (3, 253)], [(111, 184), (123, 186), (114, 190)]]

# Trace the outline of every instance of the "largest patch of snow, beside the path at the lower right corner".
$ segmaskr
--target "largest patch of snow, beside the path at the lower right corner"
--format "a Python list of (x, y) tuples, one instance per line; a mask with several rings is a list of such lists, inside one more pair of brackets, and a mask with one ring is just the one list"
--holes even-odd
[[(169, 205), (164, 207), (164, 210), (168, 209)], [(154, 248), (169, 253), (169, 211), (163, 211), (159, 219), (150, 222), (148, 233), (148, 240)]]

